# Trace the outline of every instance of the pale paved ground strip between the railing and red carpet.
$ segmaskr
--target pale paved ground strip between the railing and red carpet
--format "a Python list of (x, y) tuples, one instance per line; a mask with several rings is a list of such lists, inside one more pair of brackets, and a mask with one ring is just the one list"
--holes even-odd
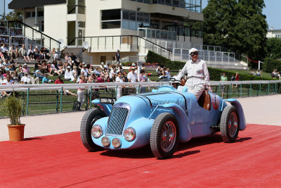
[[(246, 122), (260, 125), (281, 126), (281, 94), (239, 98)], [(79, 131), (84, 111), (51, 115), (22, 117), (25, 123), (25, 138)], [(8, 119), (0, 119), (0, 141), (8, 140)]]

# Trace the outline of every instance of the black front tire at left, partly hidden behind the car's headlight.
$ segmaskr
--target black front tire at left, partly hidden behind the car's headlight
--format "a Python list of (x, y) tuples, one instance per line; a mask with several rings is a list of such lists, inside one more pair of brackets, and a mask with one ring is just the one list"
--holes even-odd
[(83, 145), (86, 149), (89, 151), (99, 151), (103, 149), (100, 146), (97, 146), (93, 143), (92, 137), (91, 137), (91, 128), (93, 123), (96, 122), (96, 120), (105, 117), (105, 113), (101, 111), (98, 108), (93, 108), (89, 111), (87, 111), (82, 120), (80, 125), (80, 137)]

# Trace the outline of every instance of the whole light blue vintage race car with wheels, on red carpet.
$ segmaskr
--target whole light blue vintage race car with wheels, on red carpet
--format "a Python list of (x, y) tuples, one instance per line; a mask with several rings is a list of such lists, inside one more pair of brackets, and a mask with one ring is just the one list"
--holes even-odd
[(205, 91), (197, 101), (186, 87), (162, 85), (151, 93), (122, 96), (107, 104), (112, 100), (93, 100), (96, 108), (81, 120), (81, 141), (89, 151), (150, 144), (157, 158), (169, 158), (178, 142), (215, 132), (221, 132), (224, 142), (235, 142), (238, 132), (246, 129), (240, 102), (212, 92)]

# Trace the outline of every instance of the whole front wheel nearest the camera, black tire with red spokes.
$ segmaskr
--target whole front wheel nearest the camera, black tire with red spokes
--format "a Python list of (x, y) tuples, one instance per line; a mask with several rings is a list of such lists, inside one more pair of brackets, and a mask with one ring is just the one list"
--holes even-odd
[(170, 158), (178, 147), (178, 141), (178, 122), (174, 115), (159, 114), (150, 130), (150, 148), (153, 155), (157, 158)]

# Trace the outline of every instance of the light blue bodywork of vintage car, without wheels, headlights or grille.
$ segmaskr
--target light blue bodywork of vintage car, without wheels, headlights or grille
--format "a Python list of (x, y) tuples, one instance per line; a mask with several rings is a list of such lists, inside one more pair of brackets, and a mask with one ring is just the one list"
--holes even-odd
[[(246, 128), (244, 113), (241, 104), (236, 99), (223, 100), (220, 96), (209, 92), (211, 98), (211, 110), (208, 111), (198, 105), (195, 96), (186, 92), (186, 88), (181, 91), (174, 89), (169, 85), (163, 85), (159, 89), (153, 89), (151, 93), (137, 94), (130, 96), (122, 96), (114, 106), (110, 104), (100, 104), (99, 100), (93, 100), (93, 104), (100, 106), (109, 117), (100, 118), (94, 125), (100, 125), (103, 129), (103, 134), (100, 138), (92, 137), (93, 142), (98, 146), (102, 146), (101, 139), (108, 137), (110, 141), (114, 138), (119, 138), (121, 146), (119, 149), (136, 149), (150, 143), (150, 130), (155, 121), (155, 118), (160, 113), (171, 113), (178, 122), (180, 142), (188, 142), (193, 137), (202, 137), (215, 132), (212, 126), (218, 125), (221, 119), (221, 113), (230, 102), (237, 109), (240, 117), (240, 130)], [(122, 134), (108, 134), (107, 125), (110, 122), (110, 112), (113, 108), (126, 108), (126, 120), (122, 128)], [(108, 125), (109, 126), (109, 125)], [(117, 126), (117, 125), (115, 125)], [(131, 142), (124, 139), (123, 133), (127, 127), (133, 127), (136, 130), (136, 139)], [(112, 144), (106, 149), (115, 149)]]

